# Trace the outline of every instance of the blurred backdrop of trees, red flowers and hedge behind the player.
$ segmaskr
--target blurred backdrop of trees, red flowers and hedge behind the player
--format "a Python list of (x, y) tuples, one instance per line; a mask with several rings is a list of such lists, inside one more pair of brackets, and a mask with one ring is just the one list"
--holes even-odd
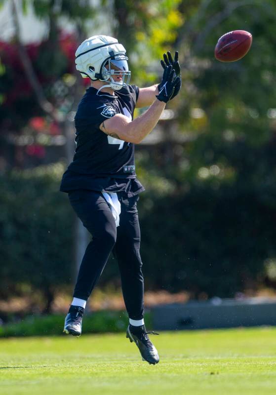
[[(199, 300), (264, 289), (274, 295), (275, 0), (0, 4), (3, 319), (10, 311), (59, 311), (62, 295), (70, 301), (76, 251), (86, 236), (78, 236), (59, 183), (73, 157), (74, 115), (89, 84), (75, 70), (75, 51), (96, 34), (126, 47), (132, 84), (160, 80), (164, 51), (178, 50), (182, 66), (180, 94), (136, 146), (146, 187), (138, 207), (147, 292)], [(252, 34), (249, 53), (218, 62), (217, 40), (237, 29)], [(95, 292), (100, 307), (105, 292), (120, 292), (112, 257)]]

